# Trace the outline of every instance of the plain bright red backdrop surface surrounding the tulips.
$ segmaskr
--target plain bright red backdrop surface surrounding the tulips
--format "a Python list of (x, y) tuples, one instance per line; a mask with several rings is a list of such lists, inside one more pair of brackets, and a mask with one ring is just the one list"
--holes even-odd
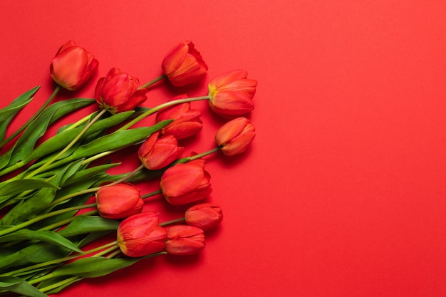
[[(445, 1), (102, 2), (0, 2), (1, 106), (42, 85), (18, 121), (51, 93), (49, 63), (69, 39), (100, 63), (84, 97), (112, 67), (155, 78), (190, 39), (208, 80), (235, 68), (258, 80), (257, 135), (240, 157), (207, 158), (207, 201), (225, 217), (202, 254), (60, 296), (445, 296)], [(167, 86), (145, 105), (207, 93)], [(205, 127), (187, 147), (202, 152), (223, 121), (193, 106)], [(162, 199), (147, 209), (180, 215)]]

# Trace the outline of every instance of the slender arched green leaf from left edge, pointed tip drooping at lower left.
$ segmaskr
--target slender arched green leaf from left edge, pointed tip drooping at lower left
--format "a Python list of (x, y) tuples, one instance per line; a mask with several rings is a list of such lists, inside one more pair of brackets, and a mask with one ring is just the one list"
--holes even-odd
[(19, 231), (15, 231), (14, 233), (0, 236), (0, 242), (16, 241), (16, 240), (45, 241), (48, 242), (49, 244), (56, 244), (58, 246), (66, 247), (67, 249), (71, 249), (73, 251), (78, 251), (80, 253), (82, 252), (81, 249), (78, 249), (78, 247), (75, 244), (73, 244), (65, 237), (48, 230), (21, 229)]

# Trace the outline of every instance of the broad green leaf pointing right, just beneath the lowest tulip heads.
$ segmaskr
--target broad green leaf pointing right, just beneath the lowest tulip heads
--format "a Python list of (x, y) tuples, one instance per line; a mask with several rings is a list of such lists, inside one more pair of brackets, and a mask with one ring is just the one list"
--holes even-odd
[(98, 256), (81, 258), (70, 264), (58, 267), (53, 271), (53, 276), (81, 276), (85, 278), (105, 276), (113, 271), (133, 265), (140, 259), (143, 258), (123, 257), (108, 259)]

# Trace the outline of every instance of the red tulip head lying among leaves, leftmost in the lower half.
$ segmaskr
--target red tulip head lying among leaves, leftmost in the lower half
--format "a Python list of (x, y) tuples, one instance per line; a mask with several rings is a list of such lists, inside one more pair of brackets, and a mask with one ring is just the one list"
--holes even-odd
[(101, 217), (123, 219), (139, 214), (144, 206), (140, 190), (130, 183), (101, 187), (96, 192), (96, 204)]

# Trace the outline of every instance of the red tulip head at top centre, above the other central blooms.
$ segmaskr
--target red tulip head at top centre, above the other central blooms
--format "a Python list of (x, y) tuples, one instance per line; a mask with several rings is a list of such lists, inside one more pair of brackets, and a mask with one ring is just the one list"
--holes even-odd
[(171, 48), (162, 61), (161, 68), (170, 83), (176, 87), (195, 83), (207, 72), (206, 63), (191, 41), (178, 43)]

